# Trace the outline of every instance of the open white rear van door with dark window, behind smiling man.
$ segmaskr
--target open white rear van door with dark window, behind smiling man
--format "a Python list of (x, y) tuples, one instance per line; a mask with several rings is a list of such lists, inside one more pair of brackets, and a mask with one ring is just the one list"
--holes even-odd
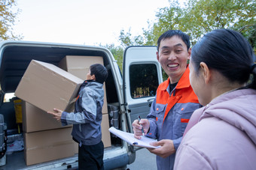
[(157, 61), (157, 46), (129, 46), (123, 55), (123, 97), (128, 130), (133, 133), (133, 121), (146, 118), (158, 85), (163, 82), (161, 65)]

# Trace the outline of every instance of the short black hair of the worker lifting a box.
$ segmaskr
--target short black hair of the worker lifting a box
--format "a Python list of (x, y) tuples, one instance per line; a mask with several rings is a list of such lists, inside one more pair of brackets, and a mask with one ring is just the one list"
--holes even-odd
[(108, 77), (108, 70), (102, 64), (93, 64), (90, 66), (90, 75), (95, 76), (96, 82), (103, 84)]

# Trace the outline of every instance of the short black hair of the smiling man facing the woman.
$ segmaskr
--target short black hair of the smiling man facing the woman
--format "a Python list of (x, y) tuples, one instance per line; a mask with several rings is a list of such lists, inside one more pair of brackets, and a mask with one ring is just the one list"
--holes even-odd
[(159, 51), (161, 40), (165, 40), (166, 38), (171, 38), (173, 36), (178, 36), (183, 40), (183, 42), (187, 45), (187, 50), (190, 48), (190, 37), (180, 30), (169, 30), (164, 32), (157, 40), (157, 51)]

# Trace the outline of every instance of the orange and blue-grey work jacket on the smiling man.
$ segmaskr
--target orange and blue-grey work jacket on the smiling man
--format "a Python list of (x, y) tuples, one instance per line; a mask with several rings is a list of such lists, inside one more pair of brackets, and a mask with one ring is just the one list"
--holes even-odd
[[(177, 151), (190, 116), (201, 105), (190, 85), (188, 67), (172, 91), (169, 82), (167, 79), (157, 88), (157, 95), (147, 116), (150, 122), (147, 136), (158, 141), (171, 139)], [(157, 169), (173, 169), (174, 160), (175, 154), (166, 158), (157, 156)]]

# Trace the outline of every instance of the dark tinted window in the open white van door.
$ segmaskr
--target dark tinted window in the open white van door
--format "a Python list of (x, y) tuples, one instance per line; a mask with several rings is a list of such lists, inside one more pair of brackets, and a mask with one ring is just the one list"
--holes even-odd
[(155, 64), (133, 64), (130, 66), (130, 95), (133, 99), (151, 97), (158, 87)]

